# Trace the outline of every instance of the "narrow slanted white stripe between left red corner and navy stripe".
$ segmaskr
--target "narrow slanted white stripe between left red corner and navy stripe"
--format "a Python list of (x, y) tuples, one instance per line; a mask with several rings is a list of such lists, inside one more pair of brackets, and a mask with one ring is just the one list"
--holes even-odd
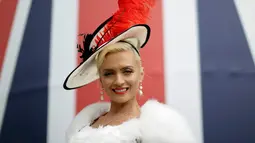
[(32, 0), (18, 1), (0, 81), (0, 131)]

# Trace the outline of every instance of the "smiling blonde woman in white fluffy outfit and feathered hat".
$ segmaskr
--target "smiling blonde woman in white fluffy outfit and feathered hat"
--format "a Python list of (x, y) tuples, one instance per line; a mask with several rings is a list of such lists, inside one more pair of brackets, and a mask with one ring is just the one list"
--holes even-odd
[[(130, 8), (121, 4), (126, 1), (119, 1), (120, 9)], [(144, 0), (136, 2), (136, 5), (152, 4)], [(136, 6), (132, 5), (134, 9)], [(142, 11), (139, 7), (139, 12), (146, 14), (148, 9)], [(121, 17), (128, 17), (123, 11), (119, 13)], [(84, 49), (78, 46), (83, 62), (64, 83), (65, 89), (75, 89), (99, 79), (101, 93), (105, 92), (111, 102), (84, 107), (67, 130), (67, 142), (195, 143), (186, 121), (172, 108), (156, 100), (139, 106), (136, 97), (142, 95), (144, 75), (139, 50), (147, 43), (150, 28), (141, 24), (141, 19), (123, 24), (126, 19), (121, 20), (119, 13), (101, 24), (92, 35), (84, 36)]]

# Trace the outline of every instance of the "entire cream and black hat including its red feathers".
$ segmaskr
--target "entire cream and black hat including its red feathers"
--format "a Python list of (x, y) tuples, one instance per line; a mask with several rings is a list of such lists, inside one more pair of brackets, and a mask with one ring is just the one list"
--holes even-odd
[(144, 47), (150, 36), (146, 22), (154, 5), (155, 0), (118, 0), (119, 9), (93, 34), (80, 34), (83, 42), (77, 44), (77, 49), (82, 53), (82, 62), (68, 75), (64, 88), (79, 88), (99, 78), (95, 56), (104, 47), (128, 38), (136, 38), (140, 48)]

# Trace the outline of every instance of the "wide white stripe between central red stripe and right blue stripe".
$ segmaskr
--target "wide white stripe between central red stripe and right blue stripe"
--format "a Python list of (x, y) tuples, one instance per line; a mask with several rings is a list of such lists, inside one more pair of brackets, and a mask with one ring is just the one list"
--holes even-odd
[(203, 142), (196, 0), (163, 0), (166, 103), (186, 116)]

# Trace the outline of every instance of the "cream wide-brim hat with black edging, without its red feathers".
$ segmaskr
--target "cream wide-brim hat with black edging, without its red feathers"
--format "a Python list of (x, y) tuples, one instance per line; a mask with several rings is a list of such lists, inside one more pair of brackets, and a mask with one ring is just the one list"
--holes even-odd
[[(92, 35), (84, 36), (84, 50), (80, 49), (83, 53), (81, 56), (83, 61), (65, 79), (63, 85), (65, 89), (76, 89), (99, 78), (95, 57), (105, 47), (119, 41), (128, 42), (133, 45), (133, 48), (143, 48), (146, 45), (150, 37), (150, 27), (146, 24), (135, 24), (123, 30), (123, 32), (104, 42), (100, 46), (97, 46), (96, 37), (101, 36), (102, 38), (102, 35), (104, 35), (102, 34), (102, 31), (105, 30), (105, 25), (111, 20), (111, 18), (112, 17), (102, 23)], [(80, 45), (78, 47), (80, 48)], [(136, 49), (136, 51), (139, 51), (139, 49)]]

